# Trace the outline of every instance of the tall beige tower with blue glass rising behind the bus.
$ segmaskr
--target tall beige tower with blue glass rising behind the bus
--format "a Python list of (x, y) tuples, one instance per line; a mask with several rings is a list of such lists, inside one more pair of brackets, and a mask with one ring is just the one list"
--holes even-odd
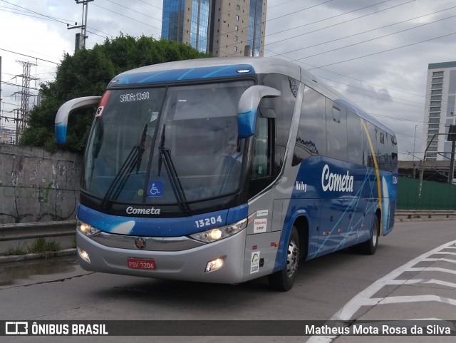
[(267, 0), (163, 0), (162, 39), (212, 56), (263, 56)]

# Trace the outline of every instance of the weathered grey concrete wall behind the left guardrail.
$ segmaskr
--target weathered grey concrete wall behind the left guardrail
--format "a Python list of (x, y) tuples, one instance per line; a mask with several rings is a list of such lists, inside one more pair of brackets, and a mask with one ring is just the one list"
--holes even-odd
[(0, 224), (74, 219), (82, 157), (0, 143)]

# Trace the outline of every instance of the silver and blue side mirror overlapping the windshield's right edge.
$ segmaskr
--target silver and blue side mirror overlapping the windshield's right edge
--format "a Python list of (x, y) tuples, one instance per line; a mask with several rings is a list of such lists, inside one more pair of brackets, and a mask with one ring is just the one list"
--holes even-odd
[(259, 102), (264, 97), (280, 96), (281, 92), (268, 86), (252, 86), (242, 94), (237, 105), (237, 129), (239, 138), (247, 138), (255, 133), (255, 120)]

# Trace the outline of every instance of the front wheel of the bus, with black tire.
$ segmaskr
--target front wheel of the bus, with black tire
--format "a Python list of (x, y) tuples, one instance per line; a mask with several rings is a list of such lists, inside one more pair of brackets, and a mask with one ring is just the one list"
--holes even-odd
[(286, 265), (284, 269), (269, 275), (269, 287), (273, 290), (286, 292), (291, 290), (299, 265), (299, 235), (296, 227), (291, 228), (286, 252)]

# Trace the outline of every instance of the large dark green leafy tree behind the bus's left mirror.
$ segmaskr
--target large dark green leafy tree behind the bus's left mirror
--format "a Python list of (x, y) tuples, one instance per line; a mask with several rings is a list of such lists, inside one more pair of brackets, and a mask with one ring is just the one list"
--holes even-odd
[(63, 55), (55, 80), (41, 84), (43, 100), (28, 116), (28, 127), (20, 145), (83, 152), (93, 121), (93, 110), (81, 111), (68, 118), (67, 143), (58, 145), (54, 139), (54, 119), (66, 101), (81, 96), (101, 96), (108, 83), (123, 71), (156, 63), (209, 57), (191, 46), (175, 41), (157, 41), (150, 37), (121, 34), (106, 39), (91, 49)]

